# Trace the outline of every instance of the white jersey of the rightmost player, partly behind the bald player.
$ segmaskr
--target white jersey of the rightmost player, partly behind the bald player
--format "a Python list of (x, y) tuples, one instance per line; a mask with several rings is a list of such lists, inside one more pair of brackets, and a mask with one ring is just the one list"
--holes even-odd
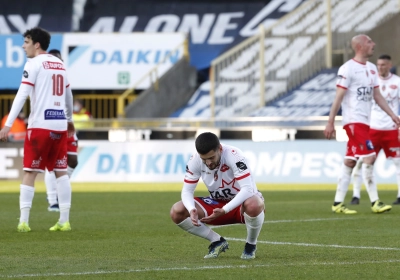
[[(389, 73), (388, 77), (379, 77), (378, 81), (382, 96), (386, 99), (390, 109), (392, 109), (395, 114), (398, 114), (400, 103), (400, 77)], [(372, 105), (370, 127), (377, 130), (397, 129), (392, 118), (375, 102), (373, 102)]]

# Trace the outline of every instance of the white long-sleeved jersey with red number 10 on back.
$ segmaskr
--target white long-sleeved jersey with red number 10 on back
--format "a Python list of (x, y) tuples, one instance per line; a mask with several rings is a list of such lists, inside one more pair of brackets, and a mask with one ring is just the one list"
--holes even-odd
[[(26, 90), (27, 86), (31, 88)], [(71, 109), (68, 110), (68, 107), (71, 104), (68, 103), (72, 103), (72, 93), (64, 63), (60, 59), (44, 53), (26, 62), (21, 86), (17, 93), (18, 98), (15, 98), (17, 102), (14, 101), (18, 105), (15, 107), (22, 108), (27, 97), (25, 95), (28, 94), (31, 102), (28, 128), (67, 130), (67, 117), (64, 110), (67, 109), (68, 119), (70, 119), (71, 112), (68, 113), (68, 111)], [(18, 111), (16, 108), (11, 109), (12, 117), (8, 118), (7, 126), (12, 125), (16, 111)]]

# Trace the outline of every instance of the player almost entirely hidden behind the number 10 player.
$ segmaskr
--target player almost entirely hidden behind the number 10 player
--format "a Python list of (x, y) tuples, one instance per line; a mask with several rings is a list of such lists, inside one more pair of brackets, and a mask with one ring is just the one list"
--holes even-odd
[[(61, 57), (61, 53), (57, 49), (52, 49), (49, 51), (49, 54), (58, 57), (61, 61), (63, 61)], [(71, 137), (67, 138), (67, 173), (71, 178), (72, 172), (78, 165), (78, 137), (76, 133)], [(59, 212), (60, 208), (58, 205), (57, 199), (57, 179), (54, 172), (49, 172), (46, 169), (44, 174), (44, 181), (46, 184), (46, 193), (47, 193), (47, 201), (49, 203), (49, 207), (47, 208), (50, 212)]]

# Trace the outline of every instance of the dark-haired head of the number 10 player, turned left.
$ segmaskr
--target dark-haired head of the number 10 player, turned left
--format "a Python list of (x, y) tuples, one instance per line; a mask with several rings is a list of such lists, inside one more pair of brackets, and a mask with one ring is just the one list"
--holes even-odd
[(46, 51), (50, 45), (50, 33), (40, 27), (26, 30), (23, 36), (24, 44), (22, 48), (28, 58), (35, 57), (39, 53)]

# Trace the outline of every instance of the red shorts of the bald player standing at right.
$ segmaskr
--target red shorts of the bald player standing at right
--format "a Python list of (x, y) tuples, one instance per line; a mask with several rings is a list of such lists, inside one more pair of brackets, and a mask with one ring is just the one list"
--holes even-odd
[(350, 123), (343, 127), (346, 130), (349, 142), (345, 158), (357, 160), (375, 155), (374, 145), (369, 136), (369, 126), (363, 123)]

